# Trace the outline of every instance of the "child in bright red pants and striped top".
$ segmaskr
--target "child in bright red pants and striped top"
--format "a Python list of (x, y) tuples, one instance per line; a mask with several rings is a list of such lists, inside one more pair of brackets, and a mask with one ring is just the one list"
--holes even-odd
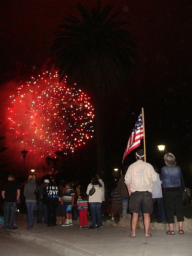
[(87, 228), (88, 198), (86, 191), (82, 189), (77, 199), (77, 210), (79, 210), (79, 229)]

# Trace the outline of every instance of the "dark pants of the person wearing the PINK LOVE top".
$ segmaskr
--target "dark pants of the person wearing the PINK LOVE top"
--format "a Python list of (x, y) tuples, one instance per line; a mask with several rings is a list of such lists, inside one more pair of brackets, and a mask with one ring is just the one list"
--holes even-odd
[(46, 203), (46, 207), (48, 210), (48, 225), (56, 225), (56, 209), (58, 207), (58, 204), (58, 199), (49, 199)]

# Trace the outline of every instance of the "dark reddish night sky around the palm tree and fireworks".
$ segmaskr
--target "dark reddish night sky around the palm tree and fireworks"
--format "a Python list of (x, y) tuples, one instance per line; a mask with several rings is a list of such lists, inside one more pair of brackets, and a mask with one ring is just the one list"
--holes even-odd
[[(90, 9), (97, 3), (0, 1), (0, 136), (6, 136), (0, 143), (9, 147), (1, 158), (12, 163), (21, 165), (23, 158), (22, 149), (12, 144), (12, 136), (7, 134), (9, 96), (19, 81), (46, 71), (53, 32), (62, 17), (69, 13), (79, 15), (78, 2), (86, 3)], [(125, 146), (143, 107), (147, 161), (161, 165), (163, 154), (156, 146), (165, 144), (182, 170), (192, 175), (192, 1), (101, 0), (101, 6), (107, 4), (114, 4), (114, 11), (122, 11), (120, 19), (129, 21), (128, 30), (136, 40), (138, 55), (124, 90), (106, 100), (108, 171), (121, 167)], [(81, 150), (93, 150), (95, 155), (94, 145), (95, 141), (90, 140)], [(134, 161), (134, 152), (126, 158), (126, 165)], [(32, 158), (27, 158), (28, 165), (32, 164)]]

